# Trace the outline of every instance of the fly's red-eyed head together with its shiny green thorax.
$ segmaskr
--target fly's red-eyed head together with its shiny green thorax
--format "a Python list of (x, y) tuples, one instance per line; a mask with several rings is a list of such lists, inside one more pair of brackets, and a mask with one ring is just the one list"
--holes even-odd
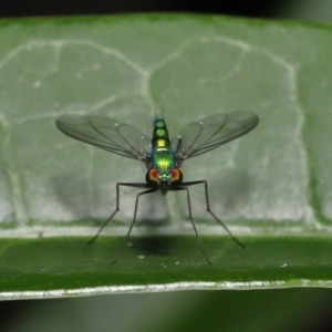
[(176, 189), (183, 181), (183, 174), (177, 168), (175, 153), (169, 149), (156, 151), (152, 154), (152, 165), (146, 173), (146, 183), (154, 189)]

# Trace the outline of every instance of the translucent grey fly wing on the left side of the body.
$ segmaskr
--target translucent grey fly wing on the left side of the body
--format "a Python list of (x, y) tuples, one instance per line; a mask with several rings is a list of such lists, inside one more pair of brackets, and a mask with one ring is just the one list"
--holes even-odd
[(103, 116), (63, 115), (56, 127), (65, 135), (114, 154), (146, 162), (151, 139), (141, 131)]

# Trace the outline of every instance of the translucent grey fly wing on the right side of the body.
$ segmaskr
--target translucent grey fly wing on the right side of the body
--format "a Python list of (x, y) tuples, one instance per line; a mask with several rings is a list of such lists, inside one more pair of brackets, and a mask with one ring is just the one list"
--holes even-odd
[(258, 122), (258, 116), (249, 111), (211, 115), (179, 131), (173, 139), (173, 147), (181, 162), (247, 134)]

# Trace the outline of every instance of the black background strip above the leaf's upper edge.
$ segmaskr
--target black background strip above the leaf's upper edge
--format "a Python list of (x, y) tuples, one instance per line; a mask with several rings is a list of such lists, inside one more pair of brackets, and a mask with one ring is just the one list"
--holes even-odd
[(0, 15), (37, 17), (37, 15), (76, 15), (111, 14), (124, 12), (200, 12), (245, 17), (277, 17), (287, 0), (234, 0), (234, 1), (178, 1), (178, 0), (1, 0)]

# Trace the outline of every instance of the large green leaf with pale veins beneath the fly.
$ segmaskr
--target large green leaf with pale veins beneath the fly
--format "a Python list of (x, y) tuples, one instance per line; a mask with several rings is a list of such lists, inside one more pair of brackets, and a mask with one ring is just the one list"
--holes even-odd
[[(0, 24), (2, 299), (177, 289), (330, 287), (332, 29), (208, 15), (9, 20)], [(63, 114), (103, 115), (149, 133), (250, 110), (248, 136), (184, 164), (204, 188), (142, 196), (145, 166), (75, 142)]]

